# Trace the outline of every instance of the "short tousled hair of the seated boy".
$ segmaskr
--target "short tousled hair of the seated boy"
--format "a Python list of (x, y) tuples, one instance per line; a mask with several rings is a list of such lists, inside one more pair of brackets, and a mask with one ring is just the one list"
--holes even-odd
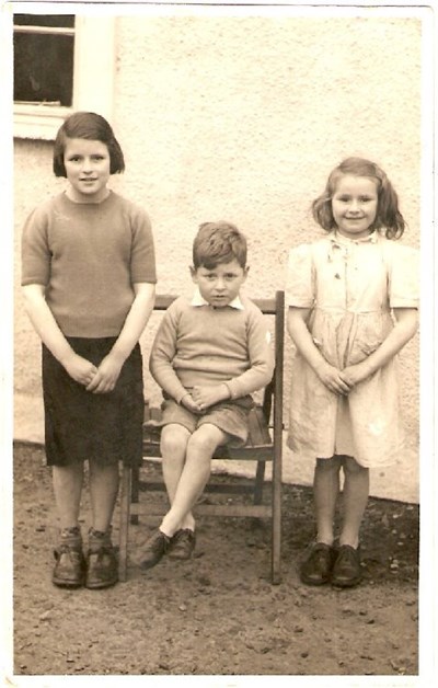
[(230, 222), (204, 222), (193, 242), (193, 266), (212, 270), (221, 263), (237, 260), (246, 266), (246, 239)]

